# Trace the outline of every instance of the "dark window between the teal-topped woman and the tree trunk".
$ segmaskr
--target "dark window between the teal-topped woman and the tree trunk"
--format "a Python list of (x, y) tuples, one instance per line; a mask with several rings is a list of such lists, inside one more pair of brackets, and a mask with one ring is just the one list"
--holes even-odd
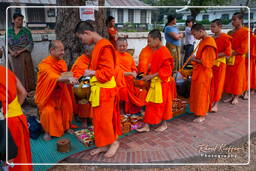
[(28, 22), (45, 22), (44, 8), (28, 8)]

